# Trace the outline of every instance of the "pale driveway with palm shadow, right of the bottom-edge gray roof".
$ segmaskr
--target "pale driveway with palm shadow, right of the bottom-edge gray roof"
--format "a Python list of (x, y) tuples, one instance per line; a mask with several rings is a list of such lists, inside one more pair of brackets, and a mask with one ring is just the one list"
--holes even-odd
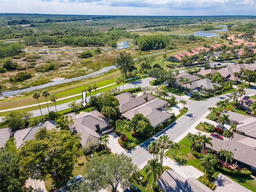
[(216, 188), (214, 192), (251, 192), (242, 185), (234, 182), (232, 179), (224, 176), (223, 174), (218, 174), (218, 176), (213, 181)]

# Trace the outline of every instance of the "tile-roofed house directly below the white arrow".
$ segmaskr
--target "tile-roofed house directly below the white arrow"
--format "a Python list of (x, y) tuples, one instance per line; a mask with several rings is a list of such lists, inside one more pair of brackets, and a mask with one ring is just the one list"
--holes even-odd
[(88, 142), (98, 143), (98, 137), (113, 131), (107, 119), (97, 110), (80, 114), (70, 113), (74, 124), (70, 128), (73, 132), (81, 134), (80, 144), (85, 146)]

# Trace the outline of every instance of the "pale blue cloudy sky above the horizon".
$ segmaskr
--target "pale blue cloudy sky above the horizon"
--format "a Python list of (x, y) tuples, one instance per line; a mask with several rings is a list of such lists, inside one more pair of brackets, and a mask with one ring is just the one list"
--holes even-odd
[(75, 15), (256, 15), (256, 0), (0, 0), (0, 13)]

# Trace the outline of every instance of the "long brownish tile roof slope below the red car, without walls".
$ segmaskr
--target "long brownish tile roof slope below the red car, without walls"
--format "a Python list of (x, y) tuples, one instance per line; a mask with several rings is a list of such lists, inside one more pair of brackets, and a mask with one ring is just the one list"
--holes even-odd
[(235, 160), (238, 160), (256, 168), (255, 148), (229, 138), (226, 138), (224, 141), (217, 138), (212, 138), (211, 142), (212, 146), (206, 144), (207, 148), (212, 148), (216, 152), (221, 149), (232, 151)]

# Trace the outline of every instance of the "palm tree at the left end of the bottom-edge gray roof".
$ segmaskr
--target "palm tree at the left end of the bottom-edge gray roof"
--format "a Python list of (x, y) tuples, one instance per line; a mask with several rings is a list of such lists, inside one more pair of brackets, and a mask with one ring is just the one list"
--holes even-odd
[(147, 177), (150, 178), (153, 175), (152, 184), (156, 181), (156, 178), (160, 175), (162, 166), (158, 162), (158, 158), (148, 160), (148, 164), (145, 166), (145, 172), (148, 173)]

